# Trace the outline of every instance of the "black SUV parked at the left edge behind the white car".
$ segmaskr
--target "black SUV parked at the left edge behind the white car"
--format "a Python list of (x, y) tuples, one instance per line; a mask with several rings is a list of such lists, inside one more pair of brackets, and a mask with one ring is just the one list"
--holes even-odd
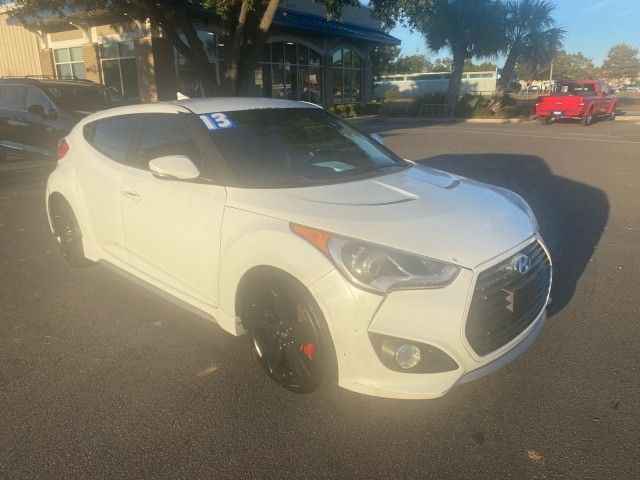
[(88, 80), (2, 77), (0, 150), (52, 155), (82, 117), (127, 103), (115, 90)]

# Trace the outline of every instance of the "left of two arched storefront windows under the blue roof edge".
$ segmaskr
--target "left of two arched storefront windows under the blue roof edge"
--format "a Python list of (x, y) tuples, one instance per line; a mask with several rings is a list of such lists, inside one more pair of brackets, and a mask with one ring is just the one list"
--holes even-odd
[[(322, 103), (322, 55), (292, 42), (274, 42), (267, 46), (256, 75), (256, 87), (262, 95)], [(258, 81), (261, 83), (258, 84)]]

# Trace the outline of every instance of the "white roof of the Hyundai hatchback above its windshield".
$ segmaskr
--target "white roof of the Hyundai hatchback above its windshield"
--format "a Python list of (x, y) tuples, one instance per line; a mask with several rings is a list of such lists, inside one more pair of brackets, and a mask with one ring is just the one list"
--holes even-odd
[(237, 110), (257, 110), (264, 108), (322, 108), (309, 102), (295, 100), (280, 100), (264, 97), (207, 97), (173, 100), (178, 105), (191, 110), (193, 113), (233, 112)]

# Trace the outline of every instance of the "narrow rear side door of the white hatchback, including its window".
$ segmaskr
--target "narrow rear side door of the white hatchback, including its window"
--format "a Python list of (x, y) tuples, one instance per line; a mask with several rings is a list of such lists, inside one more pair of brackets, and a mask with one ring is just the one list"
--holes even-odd
[(108, 254), (129, 262), (122, 225), (121, 182), (140, 118), (126, 115), (98, 120), (85, 129), (90, 146), (86, 161), (77, 162), (78, 193), (91, 232)]

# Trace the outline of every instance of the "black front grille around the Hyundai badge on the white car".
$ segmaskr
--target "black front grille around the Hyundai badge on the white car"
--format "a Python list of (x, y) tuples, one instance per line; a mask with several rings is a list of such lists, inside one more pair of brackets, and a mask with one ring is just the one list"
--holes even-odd
[[(531, 260), (531, 268), (524, 275), (511, 266), (519, 254)], [(550, 282), (551, 262), (537, 241), (481, 272), (465, 329), (473, 350), (486, 355), (522, 333), (544, 308)]]

